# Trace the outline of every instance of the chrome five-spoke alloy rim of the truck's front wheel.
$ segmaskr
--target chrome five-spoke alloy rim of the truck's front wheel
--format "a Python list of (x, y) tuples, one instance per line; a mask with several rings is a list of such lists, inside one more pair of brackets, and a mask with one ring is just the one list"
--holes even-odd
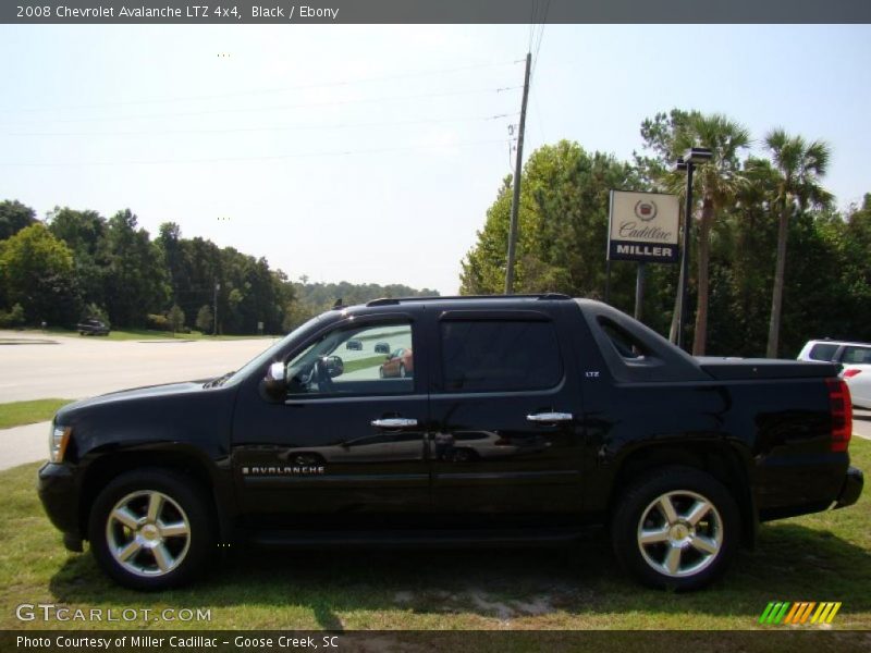
[(175, 569), (191, 547), (191, 522), (172, 498), (140, 490), (119, 501), (106, 521), (109, 553), (136, 576), (163, 576)]

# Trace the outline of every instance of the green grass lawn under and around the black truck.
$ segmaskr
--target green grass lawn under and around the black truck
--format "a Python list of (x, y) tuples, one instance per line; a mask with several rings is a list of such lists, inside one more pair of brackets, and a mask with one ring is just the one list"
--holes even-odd
[[(871, 470), (871, 442), (854, 440), (851, 452), (855, 465)], [(868, 491), (843, 510), (763, 525), (756, 552), (741, 552), (723, 580), (690, 594), (646, 590), (627, 579), (601, 534), (556, 550), (238, 550), (188, 589), (143, 594), (111, 583), (90, 555), (63, 550), (34, 492), (36, 468), (0, 472), (3, 629), (64, 626), (17, 621), (14, 606), (22, 602), (86, 611), (211, 611), (209, 623), (147, 624), (150, 628), (755, 629), (765, 605), (775, 600), (841, 601), (834, 629), (871, 628)], [(99, 627), (131, 626), (139, 624)], [(764, 627), (777, 629), (818, 627)], [(760, 633), (738, 637), (753, 645), (770, 641)], [(837, 638), (824, 642), (815, 650), (847, 643)], [(717, 638), (697, 644), (732, 650)], [(843, 648), (848, 649), (855, 650)]]

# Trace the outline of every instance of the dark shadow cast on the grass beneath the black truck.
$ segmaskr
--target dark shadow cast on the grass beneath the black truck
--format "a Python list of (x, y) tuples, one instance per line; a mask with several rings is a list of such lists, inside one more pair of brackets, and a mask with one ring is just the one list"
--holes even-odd
[[(514, 550), (263, 551), (216, 559), (194, 586), (143, 594), (121, 589), (90, 555), (71, 557), (50, 581), (62, 603), (123, 609), (150, 603), (185, 607), (307, 607), (321, 628), (342, 630), (339, 613), (412, 611), (524, 616), (655, 613), (747, 617), (769, 601), (841, 601), (871, 611), (871, 555), (830, 531), (797, 523), (764, 526), (756, 552), (741, 552), (725, 578), (706, 591), (648, 590), (616, 566), (601, 532), (572, 546)], [(652, 618), (655, 618), (653, 616)], [(655, 627), (655, 626), (652, 626)]]

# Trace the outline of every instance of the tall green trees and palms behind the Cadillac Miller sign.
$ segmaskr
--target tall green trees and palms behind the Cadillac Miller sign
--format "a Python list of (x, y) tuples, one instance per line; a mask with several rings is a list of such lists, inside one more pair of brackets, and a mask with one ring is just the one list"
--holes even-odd
[[(633, 161), (566, 140), (539, 148), (523, 172), (515, 292), (603, 298), (610, 190), (673, 193), (683, 211), (686, 174), (675, 162), (707, 147), (712, 160), (694, 176), (694, 354), (792, 357), (814, 337), (871, 340), (871, 194), (836, 209), (824, 141), (774, 128), (762, 156), (751, 144), (728, 116), (674, 109), (643, 121)], [(507, 176), (462, 261), (463, 293), (504, 287), (511, 189)], [(611, 268), (610, 300), (631, 312), (636, 263)], [(672, 337), (678, 268), (648, 266), (643, 299), (643, 321)]]

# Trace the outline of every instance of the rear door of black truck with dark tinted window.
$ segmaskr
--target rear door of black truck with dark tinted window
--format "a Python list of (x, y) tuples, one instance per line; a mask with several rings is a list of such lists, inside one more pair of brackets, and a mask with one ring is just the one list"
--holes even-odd
[(433, 331), (434, 517), (579, 510), (580, 389), (552, 317), (451, 310)]

